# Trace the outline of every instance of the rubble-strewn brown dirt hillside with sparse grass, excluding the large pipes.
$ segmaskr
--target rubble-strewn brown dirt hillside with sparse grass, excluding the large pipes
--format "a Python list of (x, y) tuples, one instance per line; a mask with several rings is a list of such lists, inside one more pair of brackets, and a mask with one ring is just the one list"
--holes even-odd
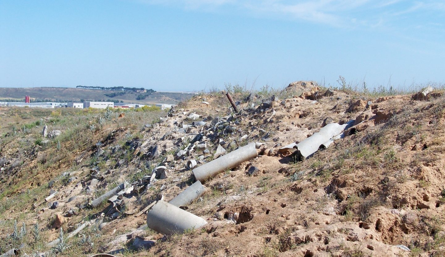
[[(1, 253), (445, 256), (441, 91), (376, 96), (299, 81), (232, 98), (237, 112), (220, 92), (168, 113), (46, 117), (4, 135)], [(42, 138), (44, 125), (60, 134)], [(285, 147), (333, 126), (344, 129), (309, 156)], [(199, 167), (218, 145), (227, 154), (251, 142), (258, 157), (202, 181), (205, 193), (181, 207), (207, 225), (168, 236), (146, 228), (147, 206), (195, 182), (187, 161)], [(99, 201), (111, 189), (121, 192)]]

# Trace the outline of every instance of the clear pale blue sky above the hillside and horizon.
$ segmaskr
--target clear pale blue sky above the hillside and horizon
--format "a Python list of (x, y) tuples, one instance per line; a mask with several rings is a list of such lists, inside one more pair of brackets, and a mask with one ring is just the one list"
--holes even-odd
[[(445, 82), (438, 0), (0, 0), (0, 87)], [(389, 82), (390, 81), (390, 82)]]

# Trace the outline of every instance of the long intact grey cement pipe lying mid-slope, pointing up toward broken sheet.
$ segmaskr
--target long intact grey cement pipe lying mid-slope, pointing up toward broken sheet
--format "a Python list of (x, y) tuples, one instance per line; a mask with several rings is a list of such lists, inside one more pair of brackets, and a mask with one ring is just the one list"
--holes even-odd
[(255, 142), (253, 142), (193, 169), (193, 175), (197, 181), (203, 182), (207, 178), (213, 177), (224, 170), (235, 168), (240, 163), (257, 156)]

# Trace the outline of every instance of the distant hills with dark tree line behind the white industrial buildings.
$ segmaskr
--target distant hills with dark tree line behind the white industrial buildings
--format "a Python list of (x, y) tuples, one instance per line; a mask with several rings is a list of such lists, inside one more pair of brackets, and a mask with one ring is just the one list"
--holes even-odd
[[(119, 96), (116, 92), (122, 95)], [(31, 101), (112, 100), (136, 104), (175, 104), (179, 101), (189, 99), (193, 95), (193, 93), (180, 92), (154, 92), (149, 94), (85, 88), (0, 88), (0, 99), (2, 100), (24, 100), (25, 96), (30, 96)]]

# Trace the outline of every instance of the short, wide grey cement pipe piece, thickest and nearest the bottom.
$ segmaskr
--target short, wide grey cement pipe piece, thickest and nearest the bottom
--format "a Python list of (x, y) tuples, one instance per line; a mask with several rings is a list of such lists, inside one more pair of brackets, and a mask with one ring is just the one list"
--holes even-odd
[(203, 218), (165, 201), (158, 201), (147, 213), (147, 226), (168, 236), (184, 233), (189, 229), (199, 229), (206, 224)]

